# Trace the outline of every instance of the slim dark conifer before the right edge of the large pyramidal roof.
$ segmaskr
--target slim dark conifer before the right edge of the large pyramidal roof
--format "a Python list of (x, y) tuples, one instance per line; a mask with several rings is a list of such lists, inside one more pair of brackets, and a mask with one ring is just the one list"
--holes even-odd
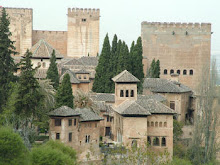
[(53, 87), (57, 89), (59, 86), (59, 74), (57, 69), (55, 50), (53, 50), (51, 56), (52, 57), (50, 58), (50, 66), (47, 70), (47, 79), (50, 79), (53, 83)]

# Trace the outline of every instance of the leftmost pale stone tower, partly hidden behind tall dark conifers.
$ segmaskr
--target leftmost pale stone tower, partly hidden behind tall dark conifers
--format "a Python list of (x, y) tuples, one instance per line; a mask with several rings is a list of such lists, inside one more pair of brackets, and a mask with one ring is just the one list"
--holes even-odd
[[(16, 51), (23, 55), (32, 46), (33, 10), (28, 8), (5, 8), (10, 17), (11, 39)], [(0, 8), (2, 10), (2, 8)]]

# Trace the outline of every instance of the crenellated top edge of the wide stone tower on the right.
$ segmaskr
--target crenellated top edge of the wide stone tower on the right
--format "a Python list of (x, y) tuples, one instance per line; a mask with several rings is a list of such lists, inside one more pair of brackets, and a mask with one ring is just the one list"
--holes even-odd
[(158, 28), (187, 28), (187, 29), (209, 29), (211, 28), (211, 23), (180, 23), (180, 22), (142, 22), (141, 25), (147, 25), (149, 27)]

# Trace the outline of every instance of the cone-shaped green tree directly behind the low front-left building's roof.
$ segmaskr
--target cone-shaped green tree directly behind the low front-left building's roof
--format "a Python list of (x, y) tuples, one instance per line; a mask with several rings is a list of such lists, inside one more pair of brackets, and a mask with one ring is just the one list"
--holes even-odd
[(65, 74), (62, 83), (60, 84), (55, 99), (56, 99), (56, 106), (61, 107), (63, 105), (68, 106), (70, 108), (74, 108), (73, 104), (73, 92), (70, 82), (69, 74)]

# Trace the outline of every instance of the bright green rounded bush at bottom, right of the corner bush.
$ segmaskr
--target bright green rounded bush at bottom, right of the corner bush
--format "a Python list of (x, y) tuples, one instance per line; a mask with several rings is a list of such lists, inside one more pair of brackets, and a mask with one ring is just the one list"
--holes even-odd
[(33, 148), (31, 162), (32, 165), (75, 165), (76, 152), (61, 142), (48, 141)]

